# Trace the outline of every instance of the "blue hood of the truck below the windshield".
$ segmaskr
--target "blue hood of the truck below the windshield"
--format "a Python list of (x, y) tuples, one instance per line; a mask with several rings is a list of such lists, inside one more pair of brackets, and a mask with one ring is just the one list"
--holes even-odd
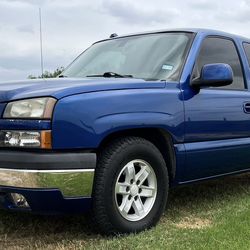
[(0, 83), (0, 102), (42, 96), (60, 99), (69, 95), (95, 91), (164, 87), (164, 81), (130, 78), (54, 78), (15, 81)]

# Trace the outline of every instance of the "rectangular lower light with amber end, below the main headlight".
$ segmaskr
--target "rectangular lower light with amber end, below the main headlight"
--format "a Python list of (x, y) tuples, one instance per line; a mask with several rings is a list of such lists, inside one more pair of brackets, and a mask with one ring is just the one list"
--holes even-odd
[(51, 148), (51, 131), (1, 131), (0, 146)]

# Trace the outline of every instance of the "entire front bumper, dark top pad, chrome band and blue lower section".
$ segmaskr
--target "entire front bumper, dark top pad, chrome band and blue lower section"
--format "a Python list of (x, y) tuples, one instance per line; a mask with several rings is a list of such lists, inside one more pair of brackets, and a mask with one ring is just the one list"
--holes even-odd
[(96, 165), (94, 153), (0, 151), (0, 205), (22, 195), (26, 209), (38, 213), (84, 212), (91, 203)]

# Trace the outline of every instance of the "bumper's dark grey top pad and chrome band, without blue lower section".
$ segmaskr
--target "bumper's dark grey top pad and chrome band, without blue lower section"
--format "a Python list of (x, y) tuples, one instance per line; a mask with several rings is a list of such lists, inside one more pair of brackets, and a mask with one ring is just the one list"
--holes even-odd
[(95, 165), (94, 153), (0, 151), (0, 188), (58, 189), (66, 198), (90, 197)]

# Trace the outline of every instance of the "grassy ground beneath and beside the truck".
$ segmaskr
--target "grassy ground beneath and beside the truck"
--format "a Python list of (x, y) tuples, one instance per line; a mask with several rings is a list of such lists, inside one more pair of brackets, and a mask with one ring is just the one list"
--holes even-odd
[(152, 230), (103, 237), (82, 216), (0, 212), (0, 249), (250, 249), (250, 174), (172, 190)]

